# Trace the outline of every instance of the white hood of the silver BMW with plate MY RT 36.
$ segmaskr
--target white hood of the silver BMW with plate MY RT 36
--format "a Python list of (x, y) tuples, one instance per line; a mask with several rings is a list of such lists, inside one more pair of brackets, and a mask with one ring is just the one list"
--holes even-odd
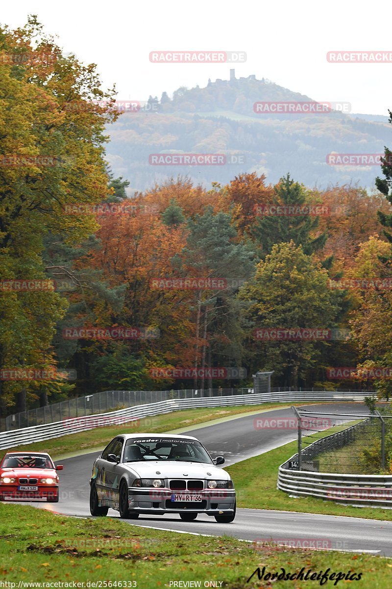
[[(132, 472), (136, 472), (139, 478), (199, 478), (219, 479), (229, 481), (230, 475), (222, 468), (213, 464), (200, 462), (179, 462), (152, 460), (148, 462), (125, 462), (121, 466)], [(159, 475), (157, 474), (159, 471)]]

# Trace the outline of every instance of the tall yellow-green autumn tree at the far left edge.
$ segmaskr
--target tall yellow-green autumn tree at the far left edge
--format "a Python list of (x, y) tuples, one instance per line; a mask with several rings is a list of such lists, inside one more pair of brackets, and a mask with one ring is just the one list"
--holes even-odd
[[(0, 274), (41, 280), (46, 235), (78, 243), (96, 228), (91, 215), (63, 213), (66, 205), (106, 197), (103, 131), (117, 114), (91, 107), (111, 98), (100, 89), (95, 66), (64, 58), (35, 17), (16, 31), (0, 30), (0, 88)], [(65, 298), (50, 288), (2, 289), (0, 296), (0, 367), (46, 368), (55, 361), (51, 341)], [(6, 383), (1, 391), (0, 380), (3, 409), (15, 395), (16, 411), (24, 409), (26, 391), (34, 396), (40, 384)]]

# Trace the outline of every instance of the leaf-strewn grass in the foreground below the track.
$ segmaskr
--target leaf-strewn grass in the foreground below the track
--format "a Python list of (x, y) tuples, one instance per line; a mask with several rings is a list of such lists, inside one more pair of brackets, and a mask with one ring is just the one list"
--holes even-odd
[[(212, 528), (214, 524), (212, 520)], [(249, 583), (246, 580), (263, 566), (266, 573), (281, 573), (281, 567), (291, 573), (299, 573), (302, 567), (312, 573), (327, 568), (330, 573), (351, 570), (362, 573), (354, 583), (358, 589), (391, 586), (392, 564), (386, 558), (273, 544), (259, 545), (256, 550), (254, 544), (228, 536), (149, 530), (115, 518), (68, 518), (29, 506), (0, 504), (0, 536), (0, 581), (14, 582), (16, 587), (19, 581), (136, 581), (138, 589), (163, 589), (170, 581), (201, 581), (201, 587), (205, 581), (222, 581), (223, 588), (260, 589), (270, 587), (270, 582), (259, 581), (257, 575)], [(346, 587), (346, 583), (341, 581), (337, 587)], [(294, 589), (320, 587), (317, 580), (275, 584)], [(334, 581), (323, 586), (334, 587)]]

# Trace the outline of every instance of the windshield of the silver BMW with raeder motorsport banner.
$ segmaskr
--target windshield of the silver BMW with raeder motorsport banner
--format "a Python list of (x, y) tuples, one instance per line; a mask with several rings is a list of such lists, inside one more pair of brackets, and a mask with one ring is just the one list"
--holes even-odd
[(197, 440), (175, 438), (140, 438), (126, 442), (123, 462), (139, 462), (148, 460), (206, 462), (213, 464), (212, 459)]

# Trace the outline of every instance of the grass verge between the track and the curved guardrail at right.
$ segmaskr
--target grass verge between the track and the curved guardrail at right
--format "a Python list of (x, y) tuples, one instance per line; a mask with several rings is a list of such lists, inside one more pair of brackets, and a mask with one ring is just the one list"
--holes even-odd
[[(336, 431), (349, 427), (349, 424), (330, 428), (319, 432), (317, 438), (330, 435)], [(314, 441), (314, 435), (303, 438), (304, 444)], [(303, 446), (304, 447), (304, 446)], [(226, 468), (234, 481), (237, 494), (237, 507), (255, 509), (279, 509), (280, 511), (301, 511), (313, 514), (344, 515), (366, 519), (392, 519), (392, 509), (371, 507), (350, 507), (324, 501), (313, 497), (290, 497), (284, 491), (276, 488), (279, 465), (286, 462), (290, 456), (296, 454), (297, 442), (289, 442), (280, 448), (270, 450), (254, 458), (237, 462)]]

